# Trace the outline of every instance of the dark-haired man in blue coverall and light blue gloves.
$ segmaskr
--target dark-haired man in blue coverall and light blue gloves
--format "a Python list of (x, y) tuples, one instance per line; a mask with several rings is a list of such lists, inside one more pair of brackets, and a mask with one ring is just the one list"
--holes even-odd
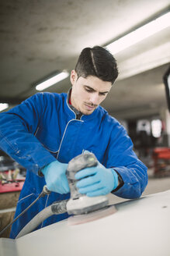
[[(13, 224), (12, 238), (43, 208), (69, 197), (68, 162), (85, 150), (93, 152), (100, 164), (76, 174), (80, 193), (95, 197), (112, 192), (125, 198), (143, 193), (146, 166), (134, 154), (123, 126), (99, 106), (117, 76), (116, 60), (105, 48), (85, 48), (71, 71), (68, 94), (35, 94), (0, 115), (0, 147), (27, 169), (16, 216), (44, 184), (53, 191)], [(54, 215), (38, 228), (67, 217)]]

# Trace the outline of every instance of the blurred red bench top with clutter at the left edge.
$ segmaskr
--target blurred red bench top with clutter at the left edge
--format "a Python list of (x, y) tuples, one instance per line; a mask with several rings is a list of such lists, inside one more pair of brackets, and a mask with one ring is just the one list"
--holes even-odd
[(24, 180), (16, 180), (16, 182), (4, 184), (0, 182), (0, 193), (21, 191), (23, 188), (23, 183)]

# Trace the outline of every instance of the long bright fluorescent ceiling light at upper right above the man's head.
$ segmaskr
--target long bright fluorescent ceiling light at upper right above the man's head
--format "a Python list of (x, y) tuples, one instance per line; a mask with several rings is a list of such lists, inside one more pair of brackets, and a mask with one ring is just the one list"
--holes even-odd
[(113, 41), (113, 43), (108, 44), (106, 48), (112, 54), (123, 51), (124, 49), (130, 47), (133, 44), (136, 44), (139, 41), (144, 40), (147, 37), (150, 37), (153, 34), (165, 29), (170, 26), (170, 12), (167, 12), (165, 15), (158, 17), (157, 19), (147, 23), (143, 27), (137, 28), (130, 34), (120, 37), (120, 39)]

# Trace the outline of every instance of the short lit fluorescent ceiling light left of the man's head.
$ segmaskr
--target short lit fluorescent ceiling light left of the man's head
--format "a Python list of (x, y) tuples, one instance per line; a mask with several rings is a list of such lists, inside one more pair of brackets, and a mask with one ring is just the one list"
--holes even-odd
[(50, 79), (44, 81), (43, 83), (36, 85), (36, 90), (37, 91), (43, 91), (47, 87), (50, 87), (51, 85), (57, 84), (58, 82), (60, 82), (61, 80), (64, 80), (68, 76), (69, 76), (69, 73), (66, 72), (66, 71), (63, 71), (63, 72), (57, 74), (56, 76), (53, 76)]

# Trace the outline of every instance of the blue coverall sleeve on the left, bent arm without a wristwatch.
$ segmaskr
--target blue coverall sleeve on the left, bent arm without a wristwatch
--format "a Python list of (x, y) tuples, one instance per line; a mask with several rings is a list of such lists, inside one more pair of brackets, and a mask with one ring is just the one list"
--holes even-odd
[(46, 105), (43, 93), (39, 93), (0, 114), (0, 148), (36, 174), (56, 160), (34, 136)]

